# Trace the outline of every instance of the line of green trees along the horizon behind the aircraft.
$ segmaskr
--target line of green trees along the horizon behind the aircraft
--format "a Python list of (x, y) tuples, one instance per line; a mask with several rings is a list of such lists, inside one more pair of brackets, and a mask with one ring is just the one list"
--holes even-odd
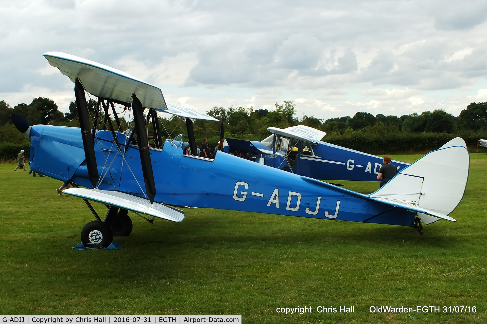
[[(94, 115), (96, 101), (89, 100), (87, 104)], [(74, 102), (70, 103), (69, 111), (63, 114), (49, 98), (34, 98), (30, 104), (19, 103), (14, 107), (0, 101), (0, 145), (26, 145), (25, 138), (12, 124), (12, 112), (25, 118), (30, 125), (79, 127)], [(487, 102), (471, 103), (456, 117), (445, 110), (436, 109), (400, 117), (357, 112), (353, 117), (343, 116), (327, 120), (306, 115), (298, 118), (296, 104), (293, 101), (276, 103), (272, 110), (232, 106), (214, 107), (207, 113), (223, 120), (225, 137), (260, 141), (270, 135), (267, 131), (269, 126), (286, 128), (306, 125), (326, 132), (323, 140), (328, 143), (375, 154), (435, 149), (439, 143), (455, 136), (463, 137), (467, 144), (473, 147), (481, 137), (487, 138)], [(123, 118), (121, 123), (122, 127), (127, 126)], [(180, 133), (187, 135), (184, 118), (168, 114), (167, 118), (159, 118), (159, 123), (164, 138), (175, 137)], [(148, 133), (152, 135), (151, 125), (148, 126)], [(220, 123), (195, 120), (194, 133), (197, 143), (203, 138), (208, 138), (208, 141), (214, 144), (220, 139)], [(2, 154), (0, 147), (0, 157)]]

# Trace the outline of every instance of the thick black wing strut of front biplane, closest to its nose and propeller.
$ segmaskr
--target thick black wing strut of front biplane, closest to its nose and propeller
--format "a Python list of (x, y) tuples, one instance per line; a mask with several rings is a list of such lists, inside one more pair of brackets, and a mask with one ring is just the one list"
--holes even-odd
[(81, 137), (83, 139), (83, 147), (85, 149), (88, 176), (90, 177), (90, 182), (92, 183), (93, 188), (96, 188), (96, 182), (98, 181), (98, 168), (96, 166), (96, 157), (94, 155), (90, 114), (88, 112), (88, 106), (86, 105), (85, 89), (81, 85), (81, 82), (79, 82), (78, 78), (75, 80), (75, 97), (76, 107), (78, 108)]

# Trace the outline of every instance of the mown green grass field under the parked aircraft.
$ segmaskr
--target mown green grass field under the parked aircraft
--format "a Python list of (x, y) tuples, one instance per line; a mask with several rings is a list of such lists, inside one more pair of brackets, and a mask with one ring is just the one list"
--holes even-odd
[[(470, 157), (467, 190), (451, 214), (458, 222), (438, 221), (424, 236), (408, 227), (194, 209), (182, 223), (151, 225), (131, 214), (131, 236), (115, 238), (124, 248), (97, 251), (71, 249), (93, 220), (81, 199), (59, 197), (60, 181), (0, 165), (0, 313), (486, 323), (487, 155)], [(333, 182), (362, 193), (378, 187)], [(276, 313), (299, 306), (313, 313)], [(356, 311), (318, 313), (317, 306)], [(477, 312), (384, 314), (370, 313), (370, 306), (476, 306)]]

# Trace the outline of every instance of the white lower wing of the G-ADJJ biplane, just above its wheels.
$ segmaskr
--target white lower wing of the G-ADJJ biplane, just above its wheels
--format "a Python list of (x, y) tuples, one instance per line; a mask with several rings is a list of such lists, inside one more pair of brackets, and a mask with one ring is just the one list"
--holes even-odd
[(151, 204), (148, 199), (132, 196), (119, 191), (70, 188), (65, 189), (63, 193), (101, 202), (102, 204), (110, 206), (124, 208), (136, 213), (167, 219), (173, 222), (182, 222), (184, 219), (184, 212), (179, 209), (155, 201)]

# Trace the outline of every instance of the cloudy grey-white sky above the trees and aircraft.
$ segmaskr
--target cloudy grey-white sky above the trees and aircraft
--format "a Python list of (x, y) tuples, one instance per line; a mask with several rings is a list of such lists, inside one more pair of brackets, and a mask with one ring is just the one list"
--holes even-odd
[(74, 84), (42, 54), (81, 56), (207, 111), (272, 109), (329, 119), (487, 101), (487, 1), (0, 0), (0, 100)]

